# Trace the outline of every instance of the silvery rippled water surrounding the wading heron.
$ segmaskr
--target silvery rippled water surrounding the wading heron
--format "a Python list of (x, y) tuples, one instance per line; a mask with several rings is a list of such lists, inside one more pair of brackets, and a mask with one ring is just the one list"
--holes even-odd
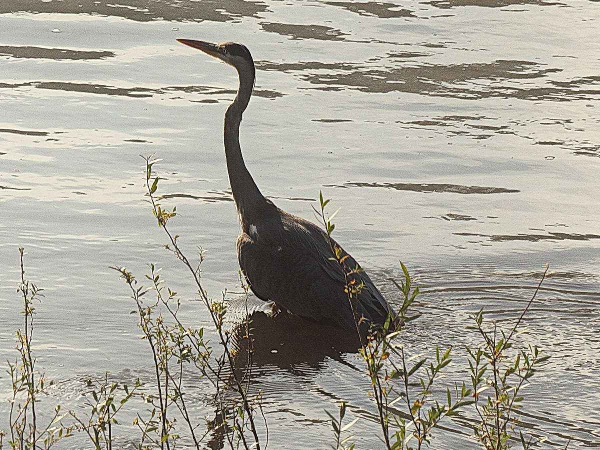
[[(463, 349), (478, 343), (469, 315), (517, 316), (550, 263), (520, 338), (552, 358), (524, 391), (522, 418), (544, 447), (569, 436), (569, 448), (600, 446), (599, 13), (583, 0), (2, 2), (2, 359), (14, 358), (25, 247), (26, 275), (46, 295), (35, 352), (64, 386), (59, 403), (80, 407), (87, 380), (107, 370), (151, 379), (133, 301), (109, 266), (141, 278), (155, 262), (182, 298), (194, 290), (140, 201), (140, 154), (164, 158), (164, 205), (177, 206), (184, 250), (208, 249), (209, 293), (236, 292), (221, 129), (237, 80), (175, 38), (235, 40), (257, 65), (241, 136), (257, 184), (309, 219), (319, 190), (331, 197), (337, 240), (388, 298), (398, 259), (429, 286), (403, 339), (415, 353), (454, 346), (450, 379), (467, 380)], [(197, 302), (182, 314), (208, 325)], [(340, 400), (360, 418), (357, 447), (381, 448), (356, 355), (280, 322), (256, 321), (269, 448), (328, 448), (324, 410)], [(209, 386), (188, 382), (197, 414), (214, 416)], [(477, 448), (471, 417), (445, 421), (431, 448)], [(118, 430), (122, 448), (136, 439)]]

